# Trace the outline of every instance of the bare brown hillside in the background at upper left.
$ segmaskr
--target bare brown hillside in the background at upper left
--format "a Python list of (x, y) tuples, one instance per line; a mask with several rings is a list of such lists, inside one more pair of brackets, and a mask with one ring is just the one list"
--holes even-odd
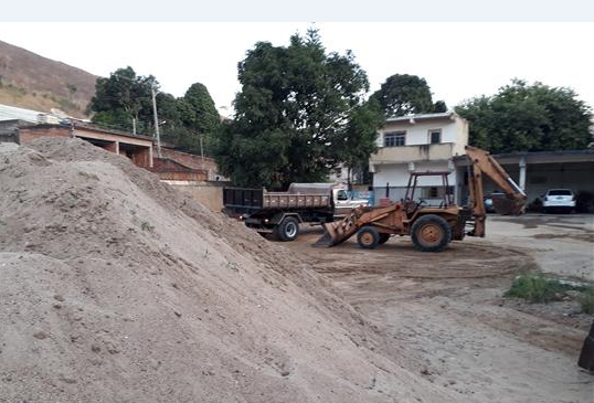
[(84, 117), (97, 77), (0, 41), (0, 104)]

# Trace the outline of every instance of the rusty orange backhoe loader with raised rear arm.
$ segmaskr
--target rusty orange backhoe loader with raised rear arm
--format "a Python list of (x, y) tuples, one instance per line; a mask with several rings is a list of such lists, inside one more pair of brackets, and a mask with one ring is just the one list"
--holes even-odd
[[(450, 172), (412, 172), (402, 201), (385, 206), (358, 206), (343, 220), (325, 223), (326, 231), (315, 246), (335, 246), (357, 234), (359, 246), (372, 250), (388, 242), (392, 235), (410, 235), (417, 250), (439, 252), (450, 241), (462, 241), (465, 235), (485, 236), (487, 213), (484, 176), (492, 179), (502, 190), (499, 197), (494, 195), (495, 210), (508, 214), (521, 213), (527, 202), (526, 193), (503, 168), (479, 148), (467, 146), (466, 155), (469, 160), (469, 205), (453, 203), (452, 194), (447, 191)], [(425, 176), (442, 177), (446, 190), (438, 205), (426, 205), (423, 200), (415, 200), (418, 178)]]

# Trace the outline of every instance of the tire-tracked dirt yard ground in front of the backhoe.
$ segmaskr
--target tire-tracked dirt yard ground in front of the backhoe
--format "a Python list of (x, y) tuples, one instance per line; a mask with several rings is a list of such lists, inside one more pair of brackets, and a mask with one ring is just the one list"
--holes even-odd
[(460, 401), (592, 402), (594, 377), (576, 365), (594, 317), (576, 300), (527, 304), (505, 298), (524, 271), (594, 280), (594, 216), (491, 215), (486, 238), (421, 253), (409, 237), (376, 250), (356, 238), (311, 244), (319, 226), (286, 243), (378, 327), (427, 380)]

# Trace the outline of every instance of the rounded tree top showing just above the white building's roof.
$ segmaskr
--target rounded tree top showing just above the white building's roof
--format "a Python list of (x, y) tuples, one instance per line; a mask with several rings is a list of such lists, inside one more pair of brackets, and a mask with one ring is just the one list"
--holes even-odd
[(433, 103), (431, 88), (425, 78), (410, 74), (394, 74), (388, 77), (371, 98), (380, 104), (386, 116), (447, 110), (445, 102)]

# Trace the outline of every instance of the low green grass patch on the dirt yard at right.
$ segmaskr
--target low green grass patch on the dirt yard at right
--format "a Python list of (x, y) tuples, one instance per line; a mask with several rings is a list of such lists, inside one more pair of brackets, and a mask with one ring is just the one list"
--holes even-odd
[(506, 293), (506, 297), (522, 298), (531, 304), (545, 304), (558, 299), (559, 294), (569, 290), (583, 290), (583, 287), (575, 287), (553, 278), (543, 276), (521, 275), (516, 277), (511, 288)]

